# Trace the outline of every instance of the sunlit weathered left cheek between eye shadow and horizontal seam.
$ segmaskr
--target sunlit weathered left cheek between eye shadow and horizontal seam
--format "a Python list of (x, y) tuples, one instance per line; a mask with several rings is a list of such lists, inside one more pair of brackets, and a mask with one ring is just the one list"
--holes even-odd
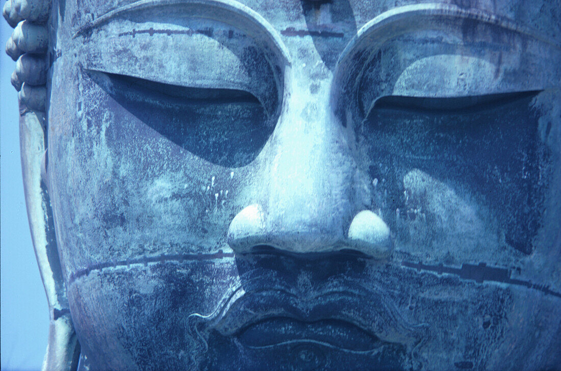
[(67, 265), (223, 248), (248, 171), (193, 155), (91, 81), (81, 90), (77, 117), (57, 123), (71, 136), (49, 138), (50, 191)]

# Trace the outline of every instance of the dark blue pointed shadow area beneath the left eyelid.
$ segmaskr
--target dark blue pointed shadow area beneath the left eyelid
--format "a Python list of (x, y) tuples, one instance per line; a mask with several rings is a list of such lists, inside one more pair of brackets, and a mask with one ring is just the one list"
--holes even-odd
[(116, 103), (142, 123), (211, 163), (231, 168), (255, 159), (273, 131), (250, 92), (162, 84), (88, 71)]

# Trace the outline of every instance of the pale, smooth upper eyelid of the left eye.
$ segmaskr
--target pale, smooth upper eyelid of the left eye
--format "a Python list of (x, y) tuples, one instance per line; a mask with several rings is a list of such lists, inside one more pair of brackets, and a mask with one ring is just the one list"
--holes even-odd
[[(134, 41), (132, 36), (126, 37)], [(219, 40), (206, 35), (194, 37), (177, 39), (173, 43), (158, 43), (148, 35), (136, 38), (136, 43), (126, 40), (123, 44), (120, 40), (109, 38), (93, 40), (90, 41), (91, 46), (84, 45), (80, 65), (90, 71), (160, 84), (243, 90), (259, 98), (268, 112), (275, 110), (282, 85), (275, 76), (274, 66), (263, 53), (251, 54), (255, 59), (247, 61), (244, 58), (250, 54), (242, 49), (222, 47), (224, 44)], [(147, 48), (151, 51), (144, 53)], [(250, 65), (254, 68), (247, 68)]]

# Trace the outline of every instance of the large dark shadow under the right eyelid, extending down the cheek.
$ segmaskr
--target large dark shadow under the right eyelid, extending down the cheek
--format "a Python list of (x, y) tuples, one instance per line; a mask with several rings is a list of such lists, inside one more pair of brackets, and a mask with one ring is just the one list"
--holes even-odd
[(539, 92), (378, 99), (360, 129), (376, 159), (371, 177), (385, 179), (389, 190), (385, 212), (403, 210), (402, 179), (420, 169), (481, 196), (494, 210), (505, 242), (530, 254), (550, 171), (532, 104)]

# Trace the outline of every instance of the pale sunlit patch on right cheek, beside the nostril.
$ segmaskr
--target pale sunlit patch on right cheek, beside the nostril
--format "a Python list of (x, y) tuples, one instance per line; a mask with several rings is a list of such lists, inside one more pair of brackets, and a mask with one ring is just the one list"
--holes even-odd
[(404, 249), (415, 244), (426, 258), (450, 264), (491, 259), (489, 250), (504, 245), (498, 222), (483, 203), (419, 169), (403, 177), (403, 188), (396, 234)]

